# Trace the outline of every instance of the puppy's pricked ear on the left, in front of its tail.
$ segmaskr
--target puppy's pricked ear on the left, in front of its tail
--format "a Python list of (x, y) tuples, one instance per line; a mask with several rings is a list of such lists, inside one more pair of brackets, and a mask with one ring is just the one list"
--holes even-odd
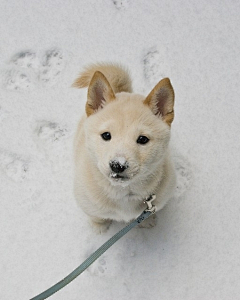
[(86, 113), (89, 117), (103, 106), (115, 99), (115, 94), (107, 78), (99, 71), (96, 71), (88, 87)]

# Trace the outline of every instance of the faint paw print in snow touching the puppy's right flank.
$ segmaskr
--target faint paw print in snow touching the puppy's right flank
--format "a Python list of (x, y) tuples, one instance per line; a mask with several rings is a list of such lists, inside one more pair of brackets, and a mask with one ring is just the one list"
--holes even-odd
[(190, 164), (181, 156), (174, 157), (174, 164), (177, 176), (177, 187), (175, 196), (180, 197), (192, 183), (192, 171)]

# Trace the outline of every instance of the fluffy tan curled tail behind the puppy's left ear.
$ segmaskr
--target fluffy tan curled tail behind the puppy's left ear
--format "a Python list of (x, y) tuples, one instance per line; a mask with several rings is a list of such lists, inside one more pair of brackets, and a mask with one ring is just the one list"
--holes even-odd
[(109, 81), (114, 93), (132, 92), (132, 81), (128, 71), (116, 64), (94, 64), (87, 66), (73, 83), (73, 87), (88, 87), (96, 71), (100, 71)]

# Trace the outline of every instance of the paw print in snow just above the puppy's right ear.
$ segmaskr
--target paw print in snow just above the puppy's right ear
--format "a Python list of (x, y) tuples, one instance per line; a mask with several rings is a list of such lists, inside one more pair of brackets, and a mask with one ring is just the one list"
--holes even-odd
[(157, 48), (149, 49), (143, 57), (144, 77), (151, 86), (155, 86), (163, 77), (168, 77), (170, 74), (164, 57), (165, 55), (160, 54)]

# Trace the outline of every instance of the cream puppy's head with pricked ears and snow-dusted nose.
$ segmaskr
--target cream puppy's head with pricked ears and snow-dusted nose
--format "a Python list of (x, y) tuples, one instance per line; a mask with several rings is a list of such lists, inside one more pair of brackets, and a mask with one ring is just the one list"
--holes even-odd
[(127, 186), (154, 175), (168, 147), (173, 106), (168, 78), (144, 97), (115, 95), (106, 77), (94, 74), (86, 103), (86, 144), (97, 168), (113, 185)]

